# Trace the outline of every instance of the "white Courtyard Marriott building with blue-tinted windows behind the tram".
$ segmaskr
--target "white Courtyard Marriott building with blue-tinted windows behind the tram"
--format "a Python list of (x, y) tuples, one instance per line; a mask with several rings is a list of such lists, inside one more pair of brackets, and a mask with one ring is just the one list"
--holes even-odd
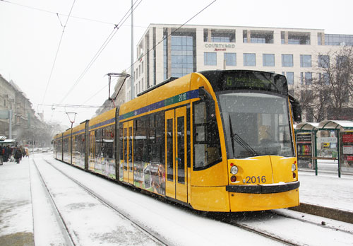
[[(209, 69), (272, 71), (287, 76), (290, 93), (321, 76), (329, 51), (353, 45), (353, 35), (323, 29), (151, 24), (137, 46), (134, 96), (169, 77)], [(325, 74), (323, 74), (325, 76)], [(126, 100), (131, 99), (131, 81)]]

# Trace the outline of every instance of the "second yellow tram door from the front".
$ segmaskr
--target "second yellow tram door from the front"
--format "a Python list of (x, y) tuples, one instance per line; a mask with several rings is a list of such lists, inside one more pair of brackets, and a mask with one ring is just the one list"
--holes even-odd
[(124, 123), (124, 182), (133, 184), (133, 121)]

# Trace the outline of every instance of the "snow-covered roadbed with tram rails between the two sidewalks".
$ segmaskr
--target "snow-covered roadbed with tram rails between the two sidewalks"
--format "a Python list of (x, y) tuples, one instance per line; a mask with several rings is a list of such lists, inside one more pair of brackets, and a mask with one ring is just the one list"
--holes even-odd
[[(310, 216), (287, 209), (275, 211), (276, 213), (235, 213), (232, 216), (224, 216), (224, 218), (220, 218), (219, 215), (216, 216), (217, 218), (215, 216), (201, 216), (181, 206), (157, 201), (127, 187), (90, 175), (54, 160), (51, 156), (38, 155), (35, 157), (35, 162), (44, 180), (46, 180), (66, 224), (72, 225), (71, 228), (74, 228), (71, 230), (74, 231), (72, 232), (73, 235), (76, 235), (76, 241), (78, 242), (76, 245), (126, 245), (127, 241), (124, 242), (124, 240), (131, 240), (128, 243), (130, 245), (131, 243), (135, 245), (156, 245), (156, 242), (150, 240), (150, 238), (146, 239), (145, 233), (140, 233), (131, 223), (122, 222), (124, 218), (117, 216), (107, 206), (99, 204), (82, 188), (77, 187), (66, 177), (60, 175), (42, 158), (47, 159), (62, 172), (100, 194), (101, 197), (119, 207), (134, 220), (162, 235), (169, 242), (172, 242), (169, 245), (234, 245), (234, 243), (282, 245), (280, 242), (264, 238), (263, 235), (258, 235), (249, 230), (256, 230), (265, 235), (282, 238), (293, 245), (353, 245), (352, 224)], [(33, 178), (35, 176), (32, 175), (33, 168), (33, 163), (30, 163), (32, 182), (35, 180)], [(32, 187), (32, 189), (38, 188)], [(49, 205), (41, 203), (37, 205), (37, 209), (35, 209), (35, 204), (33, 206), (34, 211), (42, 211)], [(45, 213), (47, 216), (44, 213), (37, 214), (37, 216), (35, 215), (35, 221), (38, 216), (42, 221), (45, 221), (47, 216), (50, 217), (50, 213)], [(322, 224), (323, 221), (325, 223)], [(244, 230), (229, 223), (235, 223), (248, 229)], [(53, 228), (55, 228), (54, 225)], [(130, 233), (125, 234), (126, 231)], [(60, 233), (56, 234), (59, 235)], [(42, 233), (39, 238), (37, 238), (37, 233), (35, 235), (36, 242), (39, 238), (45, 241)], [(60, 240), (62, 240), (62, 237), (58, 236), (55, 245), (60, 245)], [(142, 244), (138, 244), (138, 242)], [(38, 244), (36, 243), (36, 245)]]

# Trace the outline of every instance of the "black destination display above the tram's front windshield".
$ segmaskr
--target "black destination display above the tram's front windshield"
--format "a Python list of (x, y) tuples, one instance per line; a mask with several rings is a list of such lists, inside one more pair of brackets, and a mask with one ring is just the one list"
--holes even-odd
[(268, 90), (288, 94), (285, 76), (263, 71), (227, 70), (201, 72), (215, 90)]

